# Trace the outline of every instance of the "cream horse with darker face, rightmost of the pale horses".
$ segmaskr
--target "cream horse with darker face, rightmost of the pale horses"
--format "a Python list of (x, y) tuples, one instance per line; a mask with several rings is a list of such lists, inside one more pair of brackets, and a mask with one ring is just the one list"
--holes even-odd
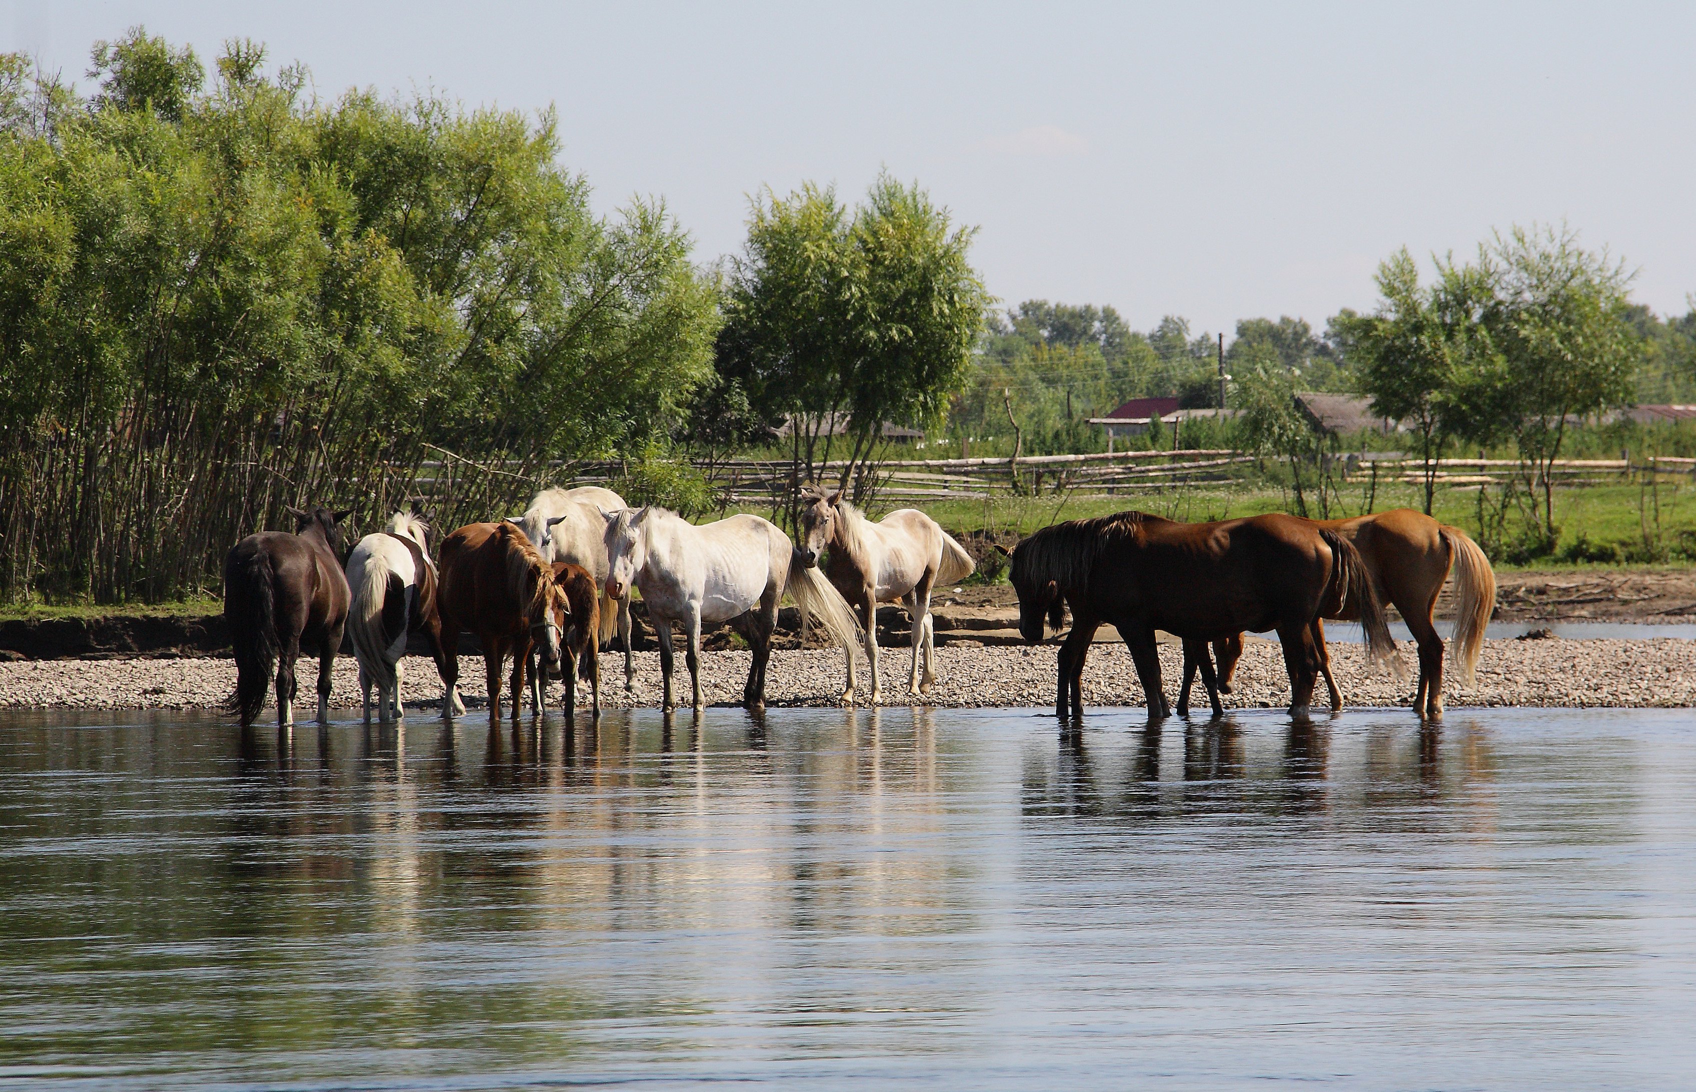
[[(824, 554), (826, 548), (829, 549)], [(843, 500), (841, 492), (802, 492), (801, 556), (819, 565), (848, 605), (860, 610), (865, 626), (865, 656), (872, 661), (872, 702), (884, 700), (877, 656), (877, 604), (906, 599), (912, 616), (912, 673), (907, 694), (936, 683), (936, 621), (931, 617), (931, 588), (965, 580), (977, 568), (972, 554), (918, 509), (897, 509), (875, 524)], [(924, 678), (919, 678), (919, 649), (924, 649)], [(848, 687), (843, 700), (855, 700), (853, 646), (848, 658)]]

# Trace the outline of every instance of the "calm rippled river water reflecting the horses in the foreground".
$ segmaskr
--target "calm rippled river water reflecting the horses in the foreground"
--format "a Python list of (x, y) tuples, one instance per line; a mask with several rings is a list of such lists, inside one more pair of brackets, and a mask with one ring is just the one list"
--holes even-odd
[(1693, 729), (0, 714), (0, 1084), (1689, 1089)]

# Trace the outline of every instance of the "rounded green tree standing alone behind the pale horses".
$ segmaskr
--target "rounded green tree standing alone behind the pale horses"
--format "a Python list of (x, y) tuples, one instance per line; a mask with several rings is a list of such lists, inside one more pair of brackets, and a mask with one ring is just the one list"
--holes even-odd
[(717, 370), (760, 414), (790, 421), (807, 480), (829, 460), (836, 424), (846, 422), (846, 485), (885, 421), (934, 424), (965, 385), (990, 304), (968, 261), (972, 236), (887, 175), (851, 215), (812, 183), (755, 198), (728, 271)]

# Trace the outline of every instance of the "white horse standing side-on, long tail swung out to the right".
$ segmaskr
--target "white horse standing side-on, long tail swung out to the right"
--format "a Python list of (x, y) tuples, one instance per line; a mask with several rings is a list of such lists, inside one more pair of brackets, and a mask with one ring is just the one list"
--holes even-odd
[(743, 614), (753, 665), (743, 704), (765, 707), (765, 666), (772, 658), (777, 602), (789, 595), (801, 607), (802, 626), (817, 616), (824, 632), (838, 644), (855, 641), (848, 602), (819, 570), (809, 568), (801, 551), (775, 524), (758, 515), (731, 515), (697, 527), (677, 512), (648, 505), (605, 514), (607, 595), (619, 599), (631, 585), (641, 588), (648, 617), (660, 638), (660, 675), (665, 680), (665, 710), (672, 700), (672, 624), (683, 627), (685, 663), (694, 683), (695, 712), (700, 694), (700, 626), (726, 622)]

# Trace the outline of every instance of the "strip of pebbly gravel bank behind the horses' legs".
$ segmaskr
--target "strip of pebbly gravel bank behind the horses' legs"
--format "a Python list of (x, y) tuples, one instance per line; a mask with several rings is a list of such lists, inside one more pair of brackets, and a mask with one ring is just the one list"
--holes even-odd
[[(1404, 655), (1411, 648), (1404, 646)], [(929, 705), (1048, 705), (1055, 692), (1055, 644), (1038, 648), (984, 648), (955, 644), (938, 648), (941, 682), (919, 699)], [(1167, 695), (1175, 697), (1180, 658), (1175, 646), (1162, 646)], [(1409, 656), (1411, 661), (1411, 656)], [(636, 656), (636, 690), (624, 692), (622, 658), (602, 656), (604, 705), (660, 704), (660, 658)], [(884, 651), (884, 704), (906, 705), (909, 655)], [(1358, 644), (1333, 644), (1331, 665), (1343, 700), (1350, 705), (1408, 705), (1414, 680), (1392, 682), (1365, 671)], [(678, 656), (678, 695), (687, 700), (689, 675)], [(862, 661), (862, 687), (867, 682)], [(707, 700), (733, 704), (748, 675), (748, 653), (706, 653), (702, 670)], [(461, 658), (461, 694), (482, 705), (483, 670), (473, 656)], [(0, 709), (185, 709), (215, 705), (234, 687), (231, 660), (51, 660), (0, 663)], [(300, 665), (297, 719), (310, 717), (315, 704), (315, 661)], [(767, 700), (772, 705), (834, 705), (843, 685), (841, 653), (775, 651), (768, 670)], [(560, 685), (551, 687), (555, 704)], [(1201, 704), (1206, 695), (1199, 690)], [(1323, 683), (1319, 687), (1323, 700)], [(587, 692), (585, 692), (587, 699)], [(1084, 671), (1084, 700), (1092, 705), (1141, 705), (1136, 671), (1123, 646), (1097, 644)], [(1243, 649), (1236, 692), (1225, 697), (1231, 707), (1279, 707), (1289, 702), (1289, 685), (1275, 643), (1252, 643)], [(434, 712), (441, 682), (424, 658), (405, 661), (409, 710)], [(1550, 705), (1550, 707), (1688, 707), (1696, 705), (1696, 641), (1487, 641), (1479, 660), (1477, 685), (1447, 687), (1450, 707), (1464, 705)], [(358, 670), (351, 658), (336, 661), (332, 704), (358, 707)], [(478, 716), (478, 714), (473, 714)]]

